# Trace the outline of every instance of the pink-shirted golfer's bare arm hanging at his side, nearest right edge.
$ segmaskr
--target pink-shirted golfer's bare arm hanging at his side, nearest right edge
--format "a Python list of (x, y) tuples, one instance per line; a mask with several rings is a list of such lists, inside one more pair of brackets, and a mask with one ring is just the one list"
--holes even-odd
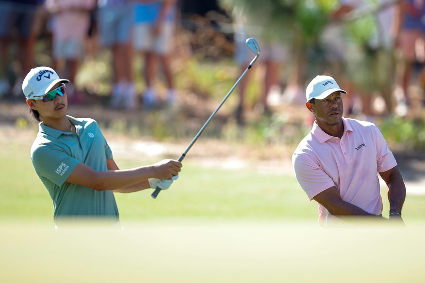
[(398, 170), (398, 166), (379, 174), (388, 187), (390, 214), (398, 213), (401, 216), (401, 209), (406, 199), (406, 186), (404, 184), (403, 177)]

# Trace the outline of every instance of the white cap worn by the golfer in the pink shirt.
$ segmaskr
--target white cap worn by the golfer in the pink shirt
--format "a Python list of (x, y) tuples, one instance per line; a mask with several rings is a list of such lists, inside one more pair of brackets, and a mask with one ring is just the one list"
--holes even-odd
[(334, 92), (342, 92), (346, 94), (347, 92), (340, 89), (340, 86), (337, 84), (335, 79), (329, 76), (316, 76), (312, 79), (306, 89), (307, 101), (310, 101), (312, 98), (324, 99)]

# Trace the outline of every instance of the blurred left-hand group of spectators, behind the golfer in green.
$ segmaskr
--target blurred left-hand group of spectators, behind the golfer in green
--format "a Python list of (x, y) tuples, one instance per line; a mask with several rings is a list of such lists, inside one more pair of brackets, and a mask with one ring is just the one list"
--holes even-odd
[[(176, 8), (177, 0), (0, 1), (0, 95), (22, 93), (23, 76), (34, 67), (37, 38), (40, 33), (47, 33), (52, 67), (70, 80), (66, 90), (71, 103), (83, 103), (75, 78), (93, 38), (98, 38), (100, 45), (112, 53), (111, 107), (127, 110), (138, 107), (133, 54), (143, 56), (145, 63), (143, 106), (151, 109), (158, 102), (153, 88), (157, 64), (164, 74), (167, 102), (173, 103), (176, 91), (170, 54)], [(14, 84), (7, 78), (12, 39), (16, 39), (16, 57), (20, 63), (14, 68)]]

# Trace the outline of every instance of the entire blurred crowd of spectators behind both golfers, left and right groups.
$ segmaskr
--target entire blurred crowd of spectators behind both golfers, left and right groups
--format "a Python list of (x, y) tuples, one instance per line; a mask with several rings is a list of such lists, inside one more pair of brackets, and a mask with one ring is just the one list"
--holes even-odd
[[(71, 81), (67, 86), (71, 103), (84, 103), (75, 77), (88, 43), (96, 40), (112, 54), (110, 107), (139, 109), (140, 98), (144, 109), (154, 109), (159, 69), (166, 86), (164, 99), (175, 104), (178, 92), (171, 60), (176, 25), (181, 24), (179, 2), (0, 0), (0, 97), (22, 94), (23, 76), (35, 66), (34, 47), (43, 34), (49, 38), (52, 67)], [(332, 9), (320, 15), (311, 7), (326, 1), (298, 1), (303, 7), (282, 7), (280, 14), (277, 4), (268, 2), (220, 2), (231, 18), (231, 31), (223, 32), (232, 34), (234, 62), (241, 73), (253, 58), (245, 39), (255, 37), (262, 49), (256, 63), (262, 65), (262, 89), (254, 106), (260, 113), (272, 113), (278, 103), (305, 103), (305, 82), (317, 74), (330, 75), (347, 89), (345, 116), (371, 121), (378, 113), (404, 117), (418, 103), (422, 106), (425, 0), (335, 0)], [(134, 73), (134, 56), (143, 58), (141, 74)], [(11, 66), (12, 61), (19, 65)], [(135, 76), (144, 81), (141, 95)], [(239, 124), (252, 108), (245, 97), (249, 80), (247, 73), (238, 88)]]

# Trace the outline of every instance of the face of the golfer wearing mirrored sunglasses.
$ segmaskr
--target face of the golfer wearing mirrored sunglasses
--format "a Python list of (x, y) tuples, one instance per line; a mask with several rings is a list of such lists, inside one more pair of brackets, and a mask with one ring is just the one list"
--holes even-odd
[[(61, 85), (62, 84), (60, 82), (57, 83), (52, 87), (52, 90), (54, 91)], [(50, 101), (43, 102), (43, 100), (29, 100), (27, 103), (32, 109), (38, 111), (43, 120), (46, 118), (61, 118), (66, 115), (66, 109), (68, 106), (66, 92), (64, 91), (63, 94), (63, 96), (57, 94), (56, 97)]]

